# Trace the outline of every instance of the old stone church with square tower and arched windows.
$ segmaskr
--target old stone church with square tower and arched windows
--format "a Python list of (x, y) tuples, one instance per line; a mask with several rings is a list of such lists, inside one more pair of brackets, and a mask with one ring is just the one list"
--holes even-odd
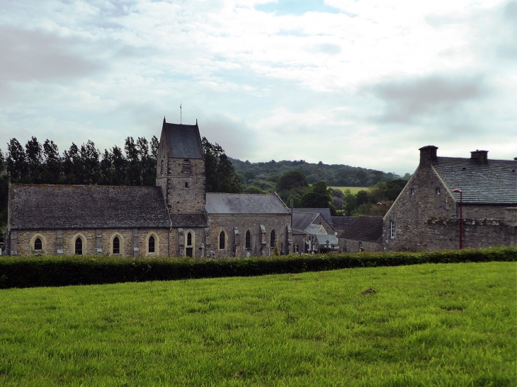
[(292, 252), (276, 194), (207, 193), (198, 123), (164, 118), (156, 187), (11, 184), (5, 253), (245, 257)]

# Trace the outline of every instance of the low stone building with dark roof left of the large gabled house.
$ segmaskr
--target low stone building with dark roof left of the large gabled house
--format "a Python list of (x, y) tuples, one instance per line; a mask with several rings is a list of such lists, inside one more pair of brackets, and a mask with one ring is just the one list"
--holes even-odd
[(382, 217), (357, 216), (339, 233), (343, 253), (382, 251)]

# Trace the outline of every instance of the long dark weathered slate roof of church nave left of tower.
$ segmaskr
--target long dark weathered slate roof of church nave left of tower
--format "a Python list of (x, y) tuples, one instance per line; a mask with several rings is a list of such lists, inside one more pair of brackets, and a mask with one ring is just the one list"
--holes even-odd
[(11, 184), (13, 229), (168, 227), (160, 187)]

